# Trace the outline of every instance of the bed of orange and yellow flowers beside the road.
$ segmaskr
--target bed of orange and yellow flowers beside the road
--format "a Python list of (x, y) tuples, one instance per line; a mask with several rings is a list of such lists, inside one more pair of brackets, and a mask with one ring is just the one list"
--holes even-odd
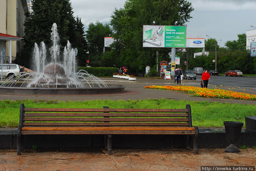
[(166, 89), (172, 91), (183, 91), (192, 93), (193, 96), (206, 98), (225, 98), (225, 99), (242, 99), (256, 100), (256, 95), (248, 93), (239, 93), (231, 90), (223, 89), (205, 89), (194, 86), (146, 86), (145, 89)]

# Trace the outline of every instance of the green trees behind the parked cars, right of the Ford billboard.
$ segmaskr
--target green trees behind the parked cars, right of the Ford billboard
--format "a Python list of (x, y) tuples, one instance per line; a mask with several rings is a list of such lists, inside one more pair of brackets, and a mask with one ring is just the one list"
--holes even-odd
[[(225, 73), (227, 70), (241, 70), (244, 74), (254, 74), (256, 72), (256, 58), (251, 57), (245, 50), (246, 35), (238, 34), (238, 40), (227, 41), (226, 48), (217, 46), (217, 70)], [(188, 48), (192, 49), (192, 48)], [(194, 48), (196, 49), (196, 48)], [(188, 69), (203, 67), (204, 69), (215, 69), (215, 39), (205, 41), (205, 50), (210, 51), (209, 56), (201, 55), (194, 58), (189, 56)]]

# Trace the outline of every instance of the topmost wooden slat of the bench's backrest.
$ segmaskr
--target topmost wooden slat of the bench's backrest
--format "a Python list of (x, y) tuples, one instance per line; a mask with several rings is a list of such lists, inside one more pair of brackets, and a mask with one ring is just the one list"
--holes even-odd
[(24, 108), (24, 112), (188, 112), (188, 109)]

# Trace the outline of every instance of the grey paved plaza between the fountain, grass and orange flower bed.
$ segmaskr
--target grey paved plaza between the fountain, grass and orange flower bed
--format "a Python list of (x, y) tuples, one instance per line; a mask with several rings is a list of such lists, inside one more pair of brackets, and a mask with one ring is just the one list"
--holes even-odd
[[(204, 98), (204, 97), (193, 97), (188, 93), (182, 93), (177, 91), (158, 90), (158, 89), (144, 89), (145, 86), (151, 85), (173, 85), (174, 80), (164, 80), (160, 78), (145, 78), (138, 77), (136, 81), (127, 81), (125, 79), (113, 78), (113, 77), (100, 77), (101, 80), (106, 82), (108, 85), (124, 85), (125, 91), (123, 93), (112, 93), (112, 94), (99, 94), (99, 95), (17, 95), (17, 94), (1, 94), (0, 100), (57, 100), (57, 101), (84, 101), (84, 100), (95, 100), (95, 99), (110, 99), (110, 100), (140, 100), (140, 99), (173, 99), (173, 100), (189, 100), (189, 101), (209, 101), (209, 102), (220, 102), (220, 103), (243, 103), (243, 104), (256, 104), (256, 101), (250, 100), (234, 100), (234, 99), (218, 99), (218, 98)], [(200, 81), (197, 80), (182, 80), (179, 85), (189, 85), (200, 87)], [(215, 85), (211, 84), (208, 88), (213, 88)], [(231, 87), (222, 87), (228, 89)], [(245, 92), (255, 94), (255, 89), (232, 87), (233, 91)]]

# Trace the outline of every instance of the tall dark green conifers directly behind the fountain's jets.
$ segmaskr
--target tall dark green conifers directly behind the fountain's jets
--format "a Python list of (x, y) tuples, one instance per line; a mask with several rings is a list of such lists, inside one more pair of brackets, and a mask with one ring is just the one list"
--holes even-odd
[[(83, 25), (76, 25), (77, 21), (73, 16), (69, 0), (31, 0), (31, 3), (33, 4), (33, 12), (30, 19), (24, 24), (25, 46), (20, 55), (20, 64), (28, 66), (27, 61), (31, 61), (31, 52), (35, 42), (39, 45), (44, 41), (47, 47), (51, 46), (50, 38), (53, 23), (58, 26), (61, 50), (67, 45), (68, 40), (72, 45), (75, 45), (78, 39), (83, 41), (81, 48), (85, 48), (84, 40), (81, 40), (83, 36), (77, 33), (81, 32), (78, 29), (81, 29)], [(77, 43), (76, 46), (80, 48), (80, 44)]]

